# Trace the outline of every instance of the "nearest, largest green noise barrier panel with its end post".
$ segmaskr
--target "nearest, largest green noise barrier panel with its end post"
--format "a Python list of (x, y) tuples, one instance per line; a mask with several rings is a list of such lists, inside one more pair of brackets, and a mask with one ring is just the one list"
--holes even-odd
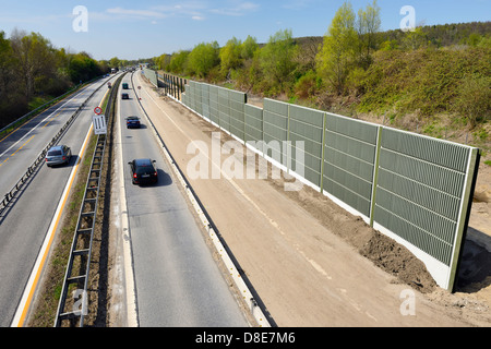
[(477, 148), (382, 130), (374, 226), (409, 242), (446, 288), (454, 286), (478, 165)]

